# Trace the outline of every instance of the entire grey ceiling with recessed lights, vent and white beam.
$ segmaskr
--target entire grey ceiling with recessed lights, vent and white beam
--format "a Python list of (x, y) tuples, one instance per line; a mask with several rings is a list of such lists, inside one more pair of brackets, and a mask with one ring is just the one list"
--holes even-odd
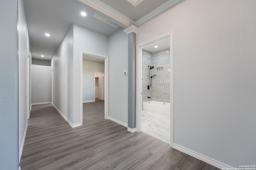
[[(145, 16), (152, 17), (152, 10), (161, 7), (160, 12), (166, 4), (180, 0), (140, 0), (137, 4), (128, 1), (138, 0), (24, 0), (32, 59), (50, 61), (73, 23), (110, 36), (121, 26), (126, 28)], [(85, 17), (81, 16), (82, 11), (86, 12)], [(121, 26), (98, 20), (93, 17), (95, 13)], [(155, 10), (153, 13), (157, 14)], [(113, 15), (109, 14), (115, 15), (110, 18)]]

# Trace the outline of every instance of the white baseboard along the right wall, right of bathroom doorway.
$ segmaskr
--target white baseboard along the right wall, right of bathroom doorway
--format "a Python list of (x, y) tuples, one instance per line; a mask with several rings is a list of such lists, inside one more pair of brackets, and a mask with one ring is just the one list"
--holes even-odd
[(202, 155), (202, 154), (200, 154), (198, 152), (194, 152), (193, 150), (184, 148), (184, 147), (182, 147), (180, 145), (173, 144), (173, 148), (177, 149), (177, 150), (180, 150), (181, 152), (184, 152), (184, 153), (186, 153), (186, 154), (188, 154), (190, 156), (198, 158), (199, 160), (202, 160), (202, 161), (204, 161), (204, 162), (206, 162), (208, 164), (211, 164), (212, 166), (215, 166), (217, 168), (220, 168), (220, 169), (222, 169), (222, 168), (233, 168), (233, 167), (228, 166), (228, 165), (226, 165), (226, 164), (224, 164), (222, 162), (219, 162), (217, 160), (214, 160), (212, 158), (204, 156), (204, 155)]

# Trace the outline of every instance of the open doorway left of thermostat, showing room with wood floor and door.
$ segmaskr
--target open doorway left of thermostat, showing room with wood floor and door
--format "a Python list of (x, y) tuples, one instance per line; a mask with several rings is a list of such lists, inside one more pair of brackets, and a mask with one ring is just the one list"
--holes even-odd
[(108, 56), (82, 52), (81, 63), (83, 124), (90, 123), (86, 114), (108, 119)]

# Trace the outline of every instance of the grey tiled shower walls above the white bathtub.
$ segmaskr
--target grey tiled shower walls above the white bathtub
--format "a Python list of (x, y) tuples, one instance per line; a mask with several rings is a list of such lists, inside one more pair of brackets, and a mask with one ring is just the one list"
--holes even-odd
[[(166, 53), (166, 51), (170, 51), (170, 49), (154, 53), (142, 50), (142, 102), (154, 100), (170, 103), (170, 53)], [(156, 74), (158, 67), (164, 68), (163, 74), (158, 74), (152, 78), (150, 90), (147, 89), (147, 86), (150, 85), (148, 66), (154, 66), (150, 70), (151, 76)]]

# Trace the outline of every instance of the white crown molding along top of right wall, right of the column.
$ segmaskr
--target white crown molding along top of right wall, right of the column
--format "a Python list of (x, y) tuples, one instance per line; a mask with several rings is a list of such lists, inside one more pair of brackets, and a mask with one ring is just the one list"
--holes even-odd
[(145, 16), (140, 18), (139, 20), (135, 21), (135, 25), (136, 26), (141, 25), (142, 23), (150, 20), (154, 16), (157, 16), (158, 14), (164, 12), (165, 10), (168, 10), (169, 8), (171, 8), (172, 6), (176, 5), (180, 1), (182, 1), (182, 0), (168, 0), (167, 2), (162, 4), (161, 6), (158, 6), (156, 9), (154, 9), (150, 13), (146, 14)]

